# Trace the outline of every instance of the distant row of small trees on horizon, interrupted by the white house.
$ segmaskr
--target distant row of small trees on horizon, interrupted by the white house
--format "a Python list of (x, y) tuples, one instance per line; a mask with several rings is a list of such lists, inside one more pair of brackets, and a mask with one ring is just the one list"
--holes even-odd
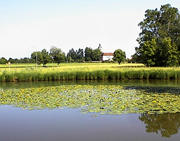
[[(121, 63), (125, 61), (126, 55), (121, 49), (118, 49), (114, 52), (114, 61)], [(6, 59), (4, 57), (0, 58), (0, 64), (6, 64), (8, 62), (12, 64), (18, 63), (37, 63), (43, 64), (44, 66), (47, 63), (63, 63), (63, 62), (97, 62), (102, 61), (102, 46), (99, 46), (96, 49), (91, 47), (86, 47), (85, 49), (70, 49), (67, 55), (60, 49), (55, 46), (51, 47), (49, 51), (43, 49), (41, 51), (35, 51), (31, 53), (30, 58), (21, 58), (21, 59)]]

